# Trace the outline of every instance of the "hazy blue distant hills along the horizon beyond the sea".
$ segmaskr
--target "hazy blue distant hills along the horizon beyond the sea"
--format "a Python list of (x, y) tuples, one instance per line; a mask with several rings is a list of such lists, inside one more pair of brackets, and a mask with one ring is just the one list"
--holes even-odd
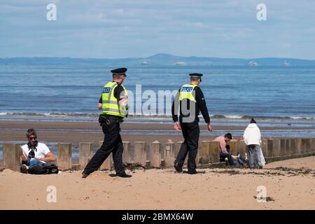
[(109, 66), (315, 66), (315, 60), (295, 58), (220, 58), (181, 57), (157, 54), (150, 57), (123, 59), (97, 59), (74, 57), (7, 57), (0, 58), (0, 64), (99, 64)]

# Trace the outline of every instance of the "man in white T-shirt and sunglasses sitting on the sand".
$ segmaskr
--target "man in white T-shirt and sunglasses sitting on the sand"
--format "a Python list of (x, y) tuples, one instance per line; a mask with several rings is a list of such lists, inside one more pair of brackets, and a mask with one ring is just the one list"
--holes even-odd
[(22, 156), (20, 157), (22, 173), (27, 174), (29, 167), (55, 161), (49, 148), (45, 144), (36, 141), (37, 134), (34, 129), (27, 130), (26, 136), (29, 142), (22, 146)]

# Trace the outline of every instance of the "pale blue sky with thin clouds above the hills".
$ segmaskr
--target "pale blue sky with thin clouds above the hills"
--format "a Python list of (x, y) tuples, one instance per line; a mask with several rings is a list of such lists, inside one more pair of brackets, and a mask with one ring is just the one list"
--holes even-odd
[[(46, 18), (49, 3), (57, 20)], [(0, 57), (315, 59), (314, 9), (309, 0), (0, 0)]]

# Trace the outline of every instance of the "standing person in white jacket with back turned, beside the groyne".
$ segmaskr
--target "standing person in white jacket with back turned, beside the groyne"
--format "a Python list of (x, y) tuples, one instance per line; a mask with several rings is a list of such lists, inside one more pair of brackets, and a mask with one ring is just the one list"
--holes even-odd
[[(261, 134), (259, 127), (256, 124), (254, 118), (251, 119), (250, 124), (246, 127), (243, 134), (244, 142), (248, 147), (249, 154), (249, 167), (250, 168), (262, 168), (265, 165), (265, 158), (263, 158), (260, 148)], [(255, 161), (255, 157), (258, 158), (258, 164)]]

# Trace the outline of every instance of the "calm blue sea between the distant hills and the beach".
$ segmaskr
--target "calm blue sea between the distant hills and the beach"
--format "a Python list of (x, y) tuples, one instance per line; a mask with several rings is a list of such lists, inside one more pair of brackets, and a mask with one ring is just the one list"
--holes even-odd
[[(0, 65), (0, 113), (99, 113), (96, 104), (111, 69)], [(201, 87), (211, 116), (315, 117), (315, 67), (139, 66), (128, 68), (124, 85), (135, 95), (141, 84), (142, 93), (152, 90), (158, 97), (159, 90), (178, 90), (188, 83), (193, 72), (204, 74)], [(158, 113), (156, 107), (151, 113)]]

